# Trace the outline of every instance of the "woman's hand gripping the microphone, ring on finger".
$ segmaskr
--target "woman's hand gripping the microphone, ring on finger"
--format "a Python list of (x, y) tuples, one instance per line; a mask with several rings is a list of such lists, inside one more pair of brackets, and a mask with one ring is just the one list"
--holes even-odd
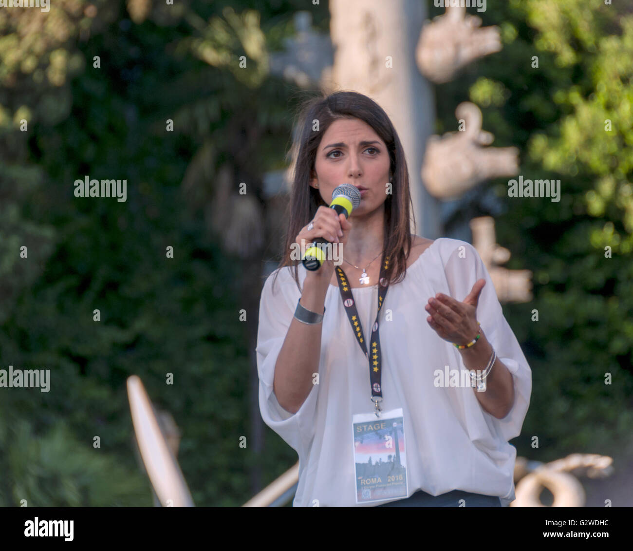
[[(337, 215), (333, 208), (323, 205), (316, 209), (316, 214), (312, 222), (312, 229), (308, 229), (308, 225), (310, 225), (310, 223), (308, 223), (301, 229), (295, 239), (295, 243), (299, 245), (299, 250), (303, 251), (301, 248), (302, 240), (305, 244), (308, 244), (312, 243), (316, 238), (323, 238), (332, 243), (332, 249), (335, 243), (340, 243), (340, 245), (337, 245), (337, 250), (342, 258), (344, 245), (348, 241), (349, 231), (352, 228), (351, 222), (346, 219), (343, 213)], [(329, 248), (326, 248), (325, 251), (329, 252)], [(329, 284), (332, 278), (332, 272), (334, 272), (334, 260), (332, 259), (332, 255), (328, 254), (327, 260), (323, 262), (322, 267), (314, 272), (308, 270), (308, 276), (311, 276), (311, 279), (314, 277), (316, 277), (316, 279), (325, 279)]]

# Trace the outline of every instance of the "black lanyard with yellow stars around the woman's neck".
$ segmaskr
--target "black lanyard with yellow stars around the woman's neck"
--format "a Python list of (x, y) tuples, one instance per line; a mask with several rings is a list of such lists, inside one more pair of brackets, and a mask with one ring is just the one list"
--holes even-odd
[(384, 257), (384, 263), (380, 266), (380, 276), (378, 280), (378, 312), (376, 314), (376, 320), (372, 327), (371, 340), (372, 340), (372, 357), (369, 357), (367, 353), (367, 346), (365, 346), (365, 339), (363, 335), (363, 328), (360, 325), (360, 317), (358, 316), (358, 310), (354, 304), (354, 297), (351, 292), (351, 288), (348, 284), (348, 279), (345, 272), (340, 266), (336, 267), (336, 277), (339, 280), (339, 291), (341, 291), (341, 300), (343, 306), (348, 314), (349, 323), (352, 326), (356, 341), (360, 345), (361, 350), (365, 353), (365, 357), (369, 362), (369, 378), (372, 385), (372, 400), (375, 407), (376, 417), (380, 417), (379, 401), (382, 401), (382, 388), (380, 387), (380, 380), (382, 374), (382, 359), (380, 353), (380, 339), (379, 339), (379, 324), (378, 319), (380, 317), (380, 308), (384, 301), (387, 289), (389, 288), (389, 281), (385, 277), (387, 273), (387, 267), (389, 267), (389, 257)]

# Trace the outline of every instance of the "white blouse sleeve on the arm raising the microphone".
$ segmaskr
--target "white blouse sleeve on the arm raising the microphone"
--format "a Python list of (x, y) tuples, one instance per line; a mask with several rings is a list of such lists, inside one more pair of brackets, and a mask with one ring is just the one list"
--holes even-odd
[[(275, 364), (284, 345), (288, 328), (301, 293), (291, 275), (279, 274), (273, 293), (275, 272), (266, 279), (261, 291), (259, 325), (257, 331), (257, 371), (260, 379), (260, 412), (263, 421), (296, 452), (304, 455), (315, 434), (314, 421), (318, 384), (313, 385), (308, 398), (295, 414), (283, 409), (273, 391)], [(277, 271), (277, 270), (275, 270)]]

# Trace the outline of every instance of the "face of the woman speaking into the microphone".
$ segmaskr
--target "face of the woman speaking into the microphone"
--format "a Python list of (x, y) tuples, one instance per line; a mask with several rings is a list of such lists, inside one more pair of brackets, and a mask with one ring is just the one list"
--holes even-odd
[(384, 141), (365, 121), (358, 118), (335, 120), (325, 130), (316, 149), (315, 172), (310, 186), (316, 187), (328, 205), (332, 191), (352, 184), (361, 192), (361, 201), (352, 216), (373, 212), (387, 198), (389, 151)]

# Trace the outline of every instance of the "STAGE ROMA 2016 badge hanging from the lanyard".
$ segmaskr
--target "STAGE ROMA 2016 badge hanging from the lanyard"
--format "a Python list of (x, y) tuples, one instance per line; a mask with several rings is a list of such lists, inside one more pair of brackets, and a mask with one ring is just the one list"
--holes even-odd
[(356, 503), (366, 503), (409, 494), (404, 452), (402, 408), (356, 414), (352, 419)]

